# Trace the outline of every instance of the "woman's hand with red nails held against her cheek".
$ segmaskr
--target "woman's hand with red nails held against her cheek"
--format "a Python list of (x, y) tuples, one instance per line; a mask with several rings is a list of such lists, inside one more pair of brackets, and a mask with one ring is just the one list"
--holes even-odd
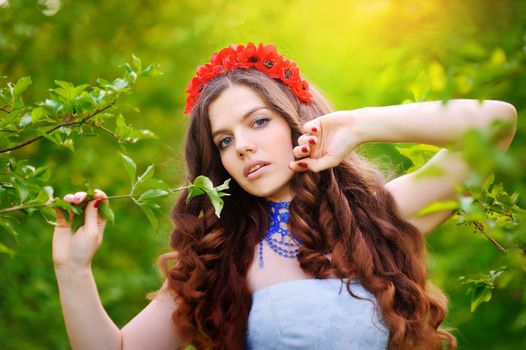
[(350, 111), (329, 113), (305, 123), (299, 145), (294, 147), (294, 156), (300, 159), (291, 162), (290, 168), (319, 172), (340, 164), (360, 144), (352, 126)]

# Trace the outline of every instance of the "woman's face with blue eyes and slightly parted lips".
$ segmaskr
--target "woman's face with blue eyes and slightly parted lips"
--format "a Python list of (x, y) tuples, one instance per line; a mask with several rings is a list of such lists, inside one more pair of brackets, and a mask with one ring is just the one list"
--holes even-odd
[(226, 171), (248, 193), (290, 201), (291, 129), (243, 85), (227, 88), (208, 109), (213, 142)]

